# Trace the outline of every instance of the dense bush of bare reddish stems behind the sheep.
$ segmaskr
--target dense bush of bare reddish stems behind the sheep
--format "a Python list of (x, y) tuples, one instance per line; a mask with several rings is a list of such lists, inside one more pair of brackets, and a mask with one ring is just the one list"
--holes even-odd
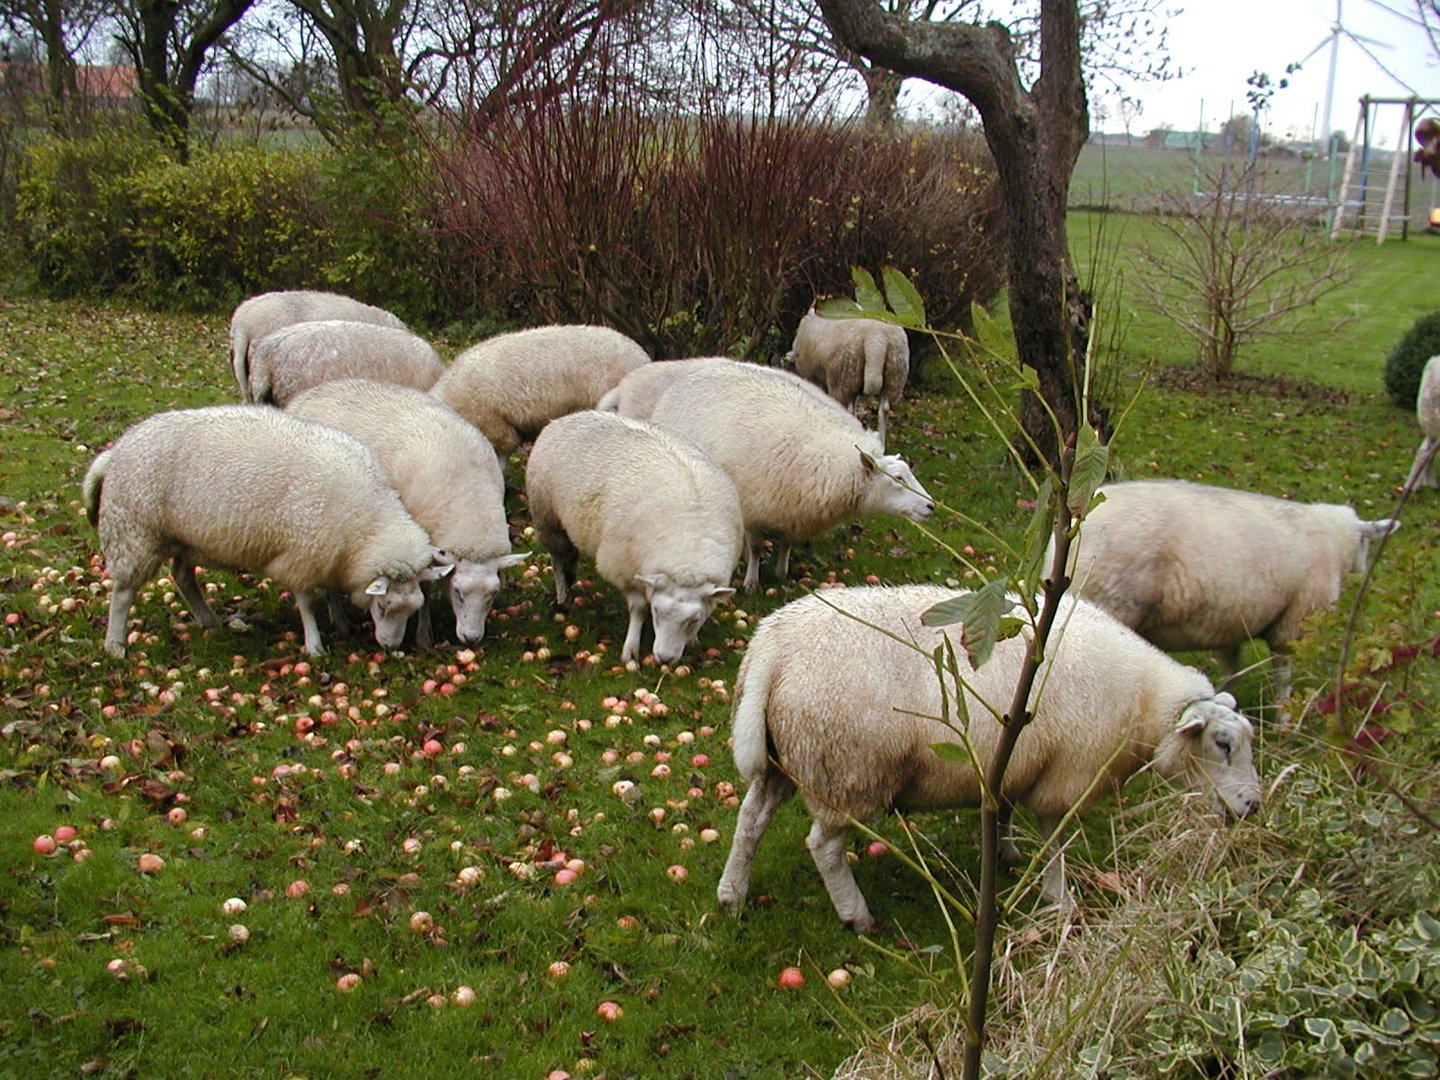
[(850, 268), (903, 269), (939, 324), (998, 291), (978, 141), (554, 102), (461, 127), (435, 156), (461, 311), (600, 321), (655, 356), (775, 356)]

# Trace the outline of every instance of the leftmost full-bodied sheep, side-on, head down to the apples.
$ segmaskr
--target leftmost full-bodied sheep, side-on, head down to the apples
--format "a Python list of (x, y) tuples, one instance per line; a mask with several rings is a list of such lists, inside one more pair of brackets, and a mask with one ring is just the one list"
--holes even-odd
[(274, 577), (295, 595), (312, 655), (324, 651), (317, 589), (369, 608), (376, 641), (395, 648), (423, 600), (420, 580), (449, 570), (369, 449), (276, 409), (219, 405), (141, 420), (95, 458), (84, 497), (112, 582), (105, 651), (115, 657), (135, 590), (167, 557), (203, 626), (219, 619), (197, 564)]

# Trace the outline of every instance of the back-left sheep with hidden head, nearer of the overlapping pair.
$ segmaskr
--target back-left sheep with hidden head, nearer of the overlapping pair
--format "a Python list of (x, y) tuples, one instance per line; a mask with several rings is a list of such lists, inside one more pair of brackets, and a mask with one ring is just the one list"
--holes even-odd
[(429, 390), (445, 364), (419, 334), (373, 323), (321, 318), (295, 323), (251, 346), (248, 400), (284, 409), (291, 397), (331, 379), (373, 379)]

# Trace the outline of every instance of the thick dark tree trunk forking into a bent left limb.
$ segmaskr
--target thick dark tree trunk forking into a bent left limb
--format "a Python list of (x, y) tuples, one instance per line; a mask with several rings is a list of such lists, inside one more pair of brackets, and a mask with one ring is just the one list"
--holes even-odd
[[(1001, 180), (1009, 251), (1011, 323), (1021, 363), (1044, 405), (1021, 402), (1034, 445), (1054, 464), (1074, 435), (1076, 387), (1089, 340), (1089, 305), (1066, 240), (1070, 174), (1089, 135), (1081, 20), (1074, 0), (1041, 0), (1040, 76), (1020, 81), (1015, 45), (999, 23), (909, 22), (873, 0), (821, 0), (835, 36), (871, 62), (965, 95), (979, 111)], [(1060, 422), (1060, 439), (1045, 408)]]

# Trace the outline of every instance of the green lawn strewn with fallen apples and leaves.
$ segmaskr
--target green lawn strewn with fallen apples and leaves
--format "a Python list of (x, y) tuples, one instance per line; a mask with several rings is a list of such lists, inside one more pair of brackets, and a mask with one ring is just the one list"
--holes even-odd
[[(1106, 230), (1119, 222), (1076, 220), (1077, 252), (1100, 220)], [(1143, 222), (1125, 228), (1128, 243)], [(1388, 513), (1417, 432), (1385, 402), (1380, 364), (1424, 310), (1434, 256), (1420, 243), (1356, 249), (1364, 276), (1336, 302), (1364, 318), (1323, 344), (1257, 353), (1253, 369), (1241, 360), (1283, 384), (1146, 389), (1115, 444), (1125, 472)], [(867, 946), (834, 917), (798, 804), (760, 848), (756, 903), (742, 920), (717, 910), (714, 884), (736, 812), (727, 687), (755, 619), (831, 575), (976, 580), (940, 541), (973, 546), (981, 573), (1004, 566), (981, 528), (942, 514), (935, 539), (888, 520), (822, 537), (798, 553), (798, 580), (721, 612), (685, 671), (611, 664), (622, 600), (595, 583), (580, 590), (583, 606), (556, 616), (543, 559), (501, 593), (474, 661), (454, 648), (377, 657), (357, 636), (331, 642), (305, 672), (288, 598), (213, 573), (217, 606), (248, 629), (194, 632), (156, 582), (132, 615), (141, 639), (117, 662), (99, 649), (107, 595), (79, 478), (141, 416), (232, 399), (223, 320), (35, 300), (0, 301), (0, 608), (14, 616), (0, 625), (0, 1074), (829, 1076), (865, 1028), (953, 1001), (946, 920), (924, 883), (897, 858), (860, 861), (884, 923), (884, 949)], [(1120, 386), (1138, 386), (1152, 357), (1188, 360), (1135, 311)], [(942, 503), (1017, 539), (1031, 492), (945, 382), (932, 373), (896, 410), (896, 448)], [(510, 517), (517, 546), (528, 546), (523, 500)], [(1367, 605), (1365, 662), (1440, 629), (1437, 526), (1440, 503), (1420, 495)], [(1303, 642), (1302, 697), (1333, 678), (1342, 625), (1344, 608)], [(1421, 739), (1434, 680), (1403, 672), (1391, 719)], [(425, 693), (428, 680), (459, 674), (454, 694)], [(642, 714), (639, 688), (658, 694), (664, 716)], [(1263, 677), (1241, 693), (1263, 703)], [(298, 717), (314, 729), (300, 732)], [(1264, 730), (1261, 772), (1315, 753), (1323, 723)], [(444, 752), (428, 757), (429, 739)], [(118, 765), (102, 766), (107, 755)], [(670, 755), (668, 778), (652, 775), (658, 755)], [(642, 798), (618, 799), (619, 779)], [(167, 819), (177, 808), (180, 825)], [(960, 891), (976, 863), (973, 822), (919, 822), (945, 852), (937, 873)], [(62, 824), (92, 852), (84, 861), (32, 852), (35, 835)], [(876, 825), (906, 842), (894, 821)], [(703, 838), (710, 828), (716, 842)], [(1090, 815), (1073, 873), (1097, 907), (1087, 861), (1104, 865), (1112, 845), (1104, 812)], [(163, 855), (163, 873), (137, 873), (147, 851)], [(562, 851), (585, 861), (569, 886), (553, 880)], [(482, 871), (478, 881), (458, 881), (465, 865)], [(687, 880), (671, 881), (671, 865)], [(297, 880), (308, 893), (288, 897)], [(248, 901), (245, 914), (222, 914), (232, 896)], [(412, 930), (416, 912), (442, 930)], [(251, 932), (243, 945), (229, 942), (235, 922)], [(118, 981), (107, 971), (115, 959), (145, 975)], [(566, 978), (547, 975), (554, 960), (570, 965)], [(782, 992), (775, 978), (792, 963), (806, 986)], [(837, 966), (855, 976), (838, 994), (824, 979)], [(336, 979), (357, 971), (359, 989), (338, 994)], [(461, 985), (477, 994), (469, 1009), (425, 1005)], [(600, 1001), (624, 1017), (599, 1020)]]

